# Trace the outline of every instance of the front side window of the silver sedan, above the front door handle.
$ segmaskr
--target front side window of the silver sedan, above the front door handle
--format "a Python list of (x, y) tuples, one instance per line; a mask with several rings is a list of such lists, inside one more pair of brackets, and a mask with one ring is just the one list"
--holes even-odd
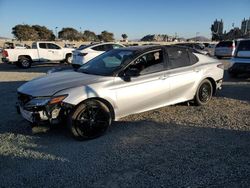
[(135, 60), (128, 69), (133, 69), (139, 75), (159, 72), (164, 70), (164, 60), (162, 50), (149, 52)]

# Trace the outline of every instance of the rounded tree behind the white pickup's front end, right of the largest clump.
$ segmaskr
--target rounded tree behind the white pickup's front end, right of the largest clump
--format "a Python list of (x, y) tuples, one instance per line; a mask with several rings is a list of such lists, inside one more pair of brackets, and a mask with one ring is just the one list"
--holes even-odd
[(64, 40), (80, 40), (81, 33), (79, 33), (76, 29), (71, 27), (62, 28), (58, 33), (58, 37)]

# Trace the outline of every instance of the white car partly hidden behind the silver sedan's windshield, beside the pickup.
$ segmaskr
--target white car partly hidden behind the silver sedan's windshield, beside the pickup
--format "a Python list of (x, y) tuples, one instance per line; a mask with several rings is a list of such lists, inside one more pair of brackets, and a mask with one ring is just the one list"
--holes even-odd
[(87, 63), (89, 60), (95, 58), (102, 53), (116, 49), (116, 48), (123, 48), (122, 44), (117, 43), (93, 43), (87, 46), (80, 46), (77, 50), (73, 52), (73, 61), (72, 66), (74, 68), (79, 68), (84, 63)]

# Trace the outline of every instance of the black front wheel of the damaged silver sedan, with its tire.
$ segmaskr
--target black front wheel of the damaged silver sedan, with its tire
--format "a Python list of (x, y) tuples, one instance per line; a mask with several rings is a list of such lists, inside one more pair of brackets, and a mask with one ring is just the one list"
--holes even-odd
[(103, 135), (112, 122), (106, 105), (98, 100), (80, 104), (69, 117), (69, 128), (77, 140), (87, 140)]

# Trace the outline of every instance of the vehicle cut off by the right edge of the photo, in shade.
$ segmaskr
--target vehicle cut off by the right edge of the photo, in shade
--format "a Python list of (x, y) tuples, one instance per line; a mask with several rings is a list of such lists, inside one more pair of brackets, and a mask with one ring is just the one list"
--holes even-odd
[(230, 60), (228, 73), (237, 77), (241, 73), (250, 73), (250, 39), (238, 41), (234, 57)]

